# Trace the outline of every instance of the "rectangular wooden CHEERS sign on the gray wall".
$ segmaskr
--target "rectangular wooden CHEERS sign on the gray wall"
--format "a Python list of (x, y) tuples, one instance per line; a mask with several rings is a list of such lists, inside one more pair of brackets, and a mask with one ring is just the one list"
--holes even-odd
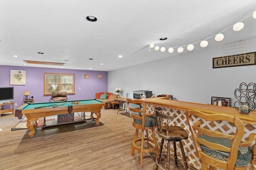
[(256, 65), (256, 52), (212, 59), (212, 68)]

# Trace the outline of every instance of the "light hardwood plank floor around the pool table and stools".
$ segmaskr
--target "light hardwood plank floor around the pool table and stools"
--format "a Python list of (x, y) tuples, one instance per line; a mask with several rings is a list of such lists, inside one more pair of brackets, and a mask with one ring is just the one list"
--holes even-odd
[(102, 110), (102, 126), (38, 127), (34, 137), (28, 129), (11, 131), (20, 120), (1, 115), (0, 170), (154, 170), (156, 153), (144, 154), (143, 167), (140, 153), (130, 154), (135, 129), (128, 113), (116, 111)]

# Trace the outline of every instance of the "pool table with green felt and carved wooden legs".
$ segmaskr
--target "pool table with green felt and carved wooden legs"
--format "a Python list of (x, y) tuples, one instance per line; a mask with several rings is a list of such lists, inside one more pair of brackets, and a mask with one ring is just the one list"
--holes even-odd
[(34, 136), (35, 129), (37, 127), (37, 120), (42, 117), (47, 117), (51, 115), (58, 115), (61, 113), (74, 113), (74, 112), (91, 112), (95, 113), (97, 118), (95, 120), (96, 125), (100, 123), (99, 119), (101, 116), (100, 110), (105, 106), (105, 102), (98, 99), (88, 99), (88, 100), (70, 100), (70, 101), (60, 101), (60, 102), (40, 102), (40, 103), (26, 103), (18, 107), (15, 110), (15, 116), (21, 118), (24, 114), (27, 121), (27, 127), (30, 130), (28, 135), (30, 137)]

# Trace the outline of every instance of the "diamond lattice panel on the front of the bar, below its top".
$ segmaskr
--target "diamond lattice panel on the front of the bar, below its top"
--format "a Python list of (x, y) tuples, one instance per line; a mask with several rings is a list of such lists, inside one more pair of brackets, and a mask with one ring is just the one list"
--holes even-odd
[[(154, 107), (155, 107), (154, 105), (146, 104), (146, 113), (147, 114), (154, 113)], [(186, 115), (185, 115), (186, 111), (167, 108), (167, 107), (165, 107), (165, 108), (166, 108), (165, 114), (174, 116), (174, 120), (171, 122), (171, 125), (174, 125), (174, 126), (178, 125), (178, 126), (184, 128), (188, 132), (189, 138), (186, 139), (186, 140), (182, 140), (184, 150), (185, 150), (185, 154), (186, 154), (186, 158), (187, 158), (187, 161), (188, 161), (188, 164), (189, 164), (190, 168), (200, 170), (201, 169), (201, 163), (200, 163), (198, 157), (196, 156), (196, 149), (194, 148), (193, 139), (192, 139), (192, 136), (191, 136), (188, 124), (187, 124), (187, 120), (186, 120)], [(194, 121), (198, 121), (198, 120), (200, 120), (200, 118), (195, 118), (194, 117)], [(235, 131), (236, 131), (235, 127), (232, 127), (232, 125), (229, 125), (225, 121), (223, 121), (221, 123), (221, 127), (216, 126), (216, 124), (214, 124), (214, 123), (209, 124), (208, 121), (204, 121), (203, 125), (206, 128), (208, 127), (208, 129), (214, 129), (216, 131), (221, 131), (221, 132), (224, 132), (226, 134), (234, 134)], [(245, 134), (244, 134), (243, 141), (248, 139), (249, 134), (252, 133), (253, 131), (254, 131), (254, 133), (256, 133), (256, 125), (251, 125), (251, 124), (247, 124), (247, 123), (244, 123), (244, 125), (245, 125)], [(161, 137), (158, 136), (156, 130), (155, 130), (155, 133), (156, 133), (156, 140), (157, 140), (158, 144), (160, 145)], [(150, 136), (151, 135), (152, 135), (152, 133), (150, 133)], [(152, 138), (152, 136), (151, 136), (151, 138)], [(177, 146), (178, 146), (177, 147), (177, 154), (178, 154), (178, 156), (181, 157), (182, 154), (181, 154), (179, 144)], [(164, 147), (163, 150), (166, 151), (166, 149), (167, 149), (167, 143), (166, 142), (164, 143), (163, 147)], [(170, 153), (174, 153), (173, 145), (171, 145)]]

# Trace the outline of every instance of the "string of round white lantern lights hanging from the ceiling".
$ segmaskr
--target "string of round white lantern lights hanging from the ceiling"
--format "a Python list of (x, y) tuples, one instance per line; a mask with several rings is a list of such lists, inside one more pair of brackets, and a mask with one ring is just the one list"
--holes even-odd
[[(233, 27), (233, 30), (234, 31), (240, 31), (241, 29), (243, 29), (244, 27), (244, 23), (242, 23), (241, 21), (243, 21), (244, 19), (248, 18), (249, 16), (251, 16), (256, 19), (256, 11), (252, 12), (250, 15), (246, 16), (245, 18), (243, 18), (242, 20), (238, 21), (237, 23), (235, 23), (234, 25), (231, 25), (230, 27)], [(159, 47), (158, 45), (155, 46), (155, 44), (153, 43), (150, 43), (150, 48), (153, 48), (155, 47), (154, 49), (156, 51), (158, 51), (160, 49), (161, 52), (164, 52), (166, 50), (166, 48), (168, 48), (168, 52), (169, 53), (173, 53), (174, 52), (174, 48), (178, 48), (177, 51), (178, 53), (182, 53), (184, 51), (184, 48), (183, 47), (187, 47), (187, 50), (188, 51), (192, 51), (194, 49), (194, 44), (196, 43), (200, 43), (200, 46), (201, 47), (207, 47), (208, 45), (208, 41), (206, 41), (207, 39), (210, 39), (212, 37), (215, 37), (214, 39), (216, 41), (222, 41), (224, 39), (224, 35), (222, 34), (222, 32), (226, 31), (227, 29), (229, 29), (230, 27), (224, 29), (223, 31), (215, 34), (215, 35), (212, 35), (204, 40), (200, 40), (200, 41), (197, 41), (195, 43), (191, 43), (189, 45), (183, 45), (183, 46), (178, 46), (178, 47)], [(150, 51), (150, 49), (149, 49)]]

